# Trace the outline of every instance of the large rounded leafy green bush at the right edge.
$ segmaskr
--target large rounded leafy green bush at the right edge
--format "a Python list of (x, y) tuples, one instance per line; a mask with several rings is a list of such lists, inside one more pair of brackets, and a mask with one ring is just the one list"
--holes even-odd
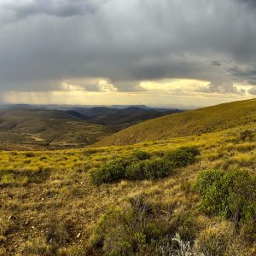
[(248, 172), (203, 171), (195, 189), (201, 195), (200, 208), (206, 214), (230, 218), (236, 225), (256, 221), (256, 180)]

